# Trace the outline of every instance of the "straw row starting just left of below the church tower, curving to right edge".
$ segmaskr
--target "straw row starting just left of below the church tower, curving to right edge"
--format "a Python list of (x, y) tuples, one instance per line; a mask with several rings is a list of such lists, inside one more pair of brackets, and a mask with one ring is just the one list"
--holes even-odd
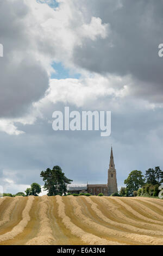
[[(130, 223), (130, 224), (134, 225), (134, 227), (137, 227), (140, 229), (145, 228), (145, 230), (153, 230), (154, 229), (154, 230), (163, 231), (162, 227), (160, 227), (160, 225), (158, 225), (158, 224), (142, 222), (142, 220), (136, 221), (131, 217), (127, 217), (125, 214), (123, 214), (123, 212), (119, 209), (118, 206), (115, 206), (112, 202), (110, 202), (109, 198), (106, 199), (105, 197), (101, 197), (98, 200), (101, 201), (103, 207), (108, 206), (109, 211), (111, 210), (111, 212), (116, 216), (118, 221), (121, 220), (124, 223)], [(119, 205), (119, 203), (118, 203), (118, 205)], [(123, 206), (121, 205), (121, 207), (123, 207)]]

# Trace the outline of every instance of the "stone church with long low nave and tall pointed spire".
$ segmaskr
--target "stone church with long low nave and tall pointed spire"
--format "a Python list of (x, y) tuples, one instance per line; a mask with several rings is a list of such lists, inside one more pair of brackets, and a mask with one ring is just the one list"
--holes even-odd
[(107, 184), (86, 184), (86, 185), (70, 185), (67, 187), (67, 192), (70, 193), (90, 193), (92, 195), (98, 195), (103, 193), (104, 196), (110, 196), (112, 193), (117, 192), (117, 178), (116, 169), (114, 164), (114, 157), (110, 154), (110, 163), (108, 169), (108, 183)]

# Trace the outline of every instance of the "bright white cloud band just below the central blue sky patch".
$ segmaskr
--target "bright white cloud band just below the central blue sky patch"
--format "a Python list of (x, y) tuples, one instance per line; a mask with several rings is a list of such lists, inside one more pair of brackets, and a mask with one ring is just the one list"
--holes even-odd
[[(42, 107), (48, 102), (64, 102), (77, 107), (95, 106), (97, 101), (101, 101), (106, 96), (125, 97), (128, 95), (127, 83), (129, 77), (123, 79), (118, 76), (103, 77), (94, 75), (80, 79), (67, 78), (65, 80), (52, 79), (46, 96), (35, 107)], [(92, 103), (92, 106), (91, 106)]]

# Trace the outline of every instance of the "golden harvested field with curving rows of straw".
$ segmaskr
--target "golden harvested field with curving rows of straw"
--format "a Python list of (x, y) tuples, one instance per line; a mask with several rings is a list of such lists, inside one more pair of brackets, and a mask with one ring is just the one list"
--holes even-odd
[(3, 197), (0, 245), (163, 245), (163, 200)]

